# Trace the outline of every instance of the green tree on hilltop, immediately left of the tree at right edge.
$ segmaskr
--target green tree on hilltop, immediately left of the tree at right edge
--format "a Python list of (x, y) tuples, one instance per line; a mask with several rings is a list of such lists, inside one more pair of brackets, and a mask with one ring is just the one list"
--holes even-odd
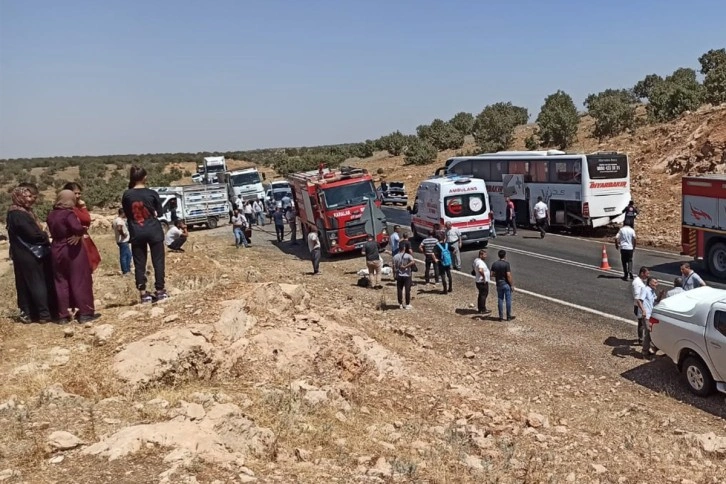
[(653, 121), (669, 121), (703, 103), (705, 89), (693, 69), (676, 69), (663, 82), (653, 87), (648, 98), (648, 115)]

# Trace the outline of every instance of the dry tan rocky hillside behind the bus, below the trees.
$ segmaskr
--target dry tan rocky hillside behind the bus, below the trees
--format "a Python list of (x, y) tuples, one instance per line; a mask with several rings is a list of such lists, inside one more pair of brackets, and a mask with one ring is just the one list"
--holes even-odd
[[(640, 112), (641, 118), (643, 112)], [(521, 126), (515, 133), (513, 149), (524, 150), (524, 140), (534, 125)], [(676, 121), (643, 125), (634, 134), (623, 134), (604, 142), (592, 137), (593, 122), (581, 119), (577, 142), (571, 151), (622, 151), (630, 155), (633, 199), (640, 209), (638, 232), (644, 242), (676, 248), (680, 244), (680, 177), (692, 173), (726, 171), (726, 106), (704, 106)], [(475, 150), (468, 142), (461, 151)], [(406, 166), (402, 156), (386, 153), (359, 160), (355, 164), (372, 172), (381, 171), (389, 180), (404, 180), (413, 194), (418, 183), (443, 166), (457, 151), (441, 152), (435, 164)]]

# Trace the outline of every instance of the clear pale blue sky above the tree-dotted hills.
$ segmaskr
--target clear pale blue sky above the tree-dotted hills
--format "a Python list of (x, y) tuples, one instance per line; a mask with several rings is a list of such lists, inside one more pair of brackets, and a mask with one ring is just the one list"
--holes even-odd
[(723, 0), (0, 0), (0, 158), (237, 151), (536, 119), (698, 68)]

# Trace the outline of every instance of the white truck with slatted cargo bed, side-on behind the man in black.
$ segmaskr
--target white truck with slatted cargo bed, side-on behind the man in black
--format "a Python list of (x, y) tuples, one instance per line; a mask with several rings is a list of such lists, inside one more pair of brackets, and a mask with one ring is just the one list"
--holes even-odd
[(161, 198), (163, 212), (159, 220), (165, 231), (176, 218), (184, 220), (189, 227), (205, 225), (210, 229), (217, 227), (220, 220), (228, 220), (230, 204), (224, 185), (152, 187), (152, 190)]

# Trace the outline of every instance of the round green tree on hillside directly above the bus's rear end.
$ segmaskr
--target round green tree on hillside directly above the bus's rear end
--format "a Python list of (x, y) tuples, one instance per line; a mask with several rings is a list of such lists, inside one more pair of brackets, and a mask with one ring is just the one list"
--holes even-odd
[(606, 89), (585, 99), (587, 112), (595, 119), (593, 134), (600, 140), (635, 127), (637, 99), (627, 89)]

